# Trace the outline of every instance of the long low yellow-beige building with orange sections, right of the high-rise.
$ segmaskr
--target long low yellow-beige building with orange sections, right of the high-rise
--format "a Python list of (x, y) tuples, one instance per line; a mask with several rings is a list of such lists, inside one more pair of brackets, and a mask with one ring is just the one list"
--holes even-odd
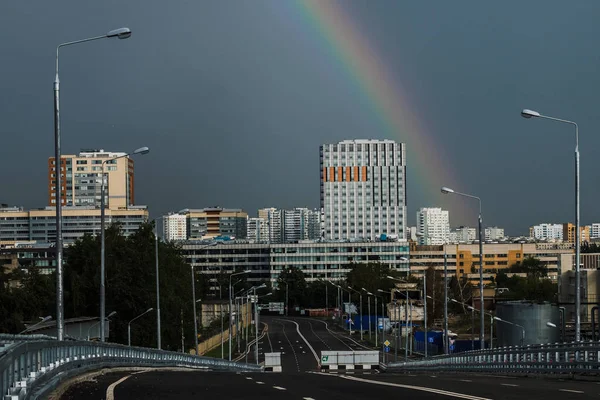
[[(466, 277), (473, 283), (479, 282), (479, 244), (449, 244), (445, 246), (417, 246), (410, 250), (410, 269), (416, 274), (430, 266), (444, 270), (444, 251), (450, 274)], [(527, 257), (535, 257), (548, 268), (550, 279), (558, 276), (558, 259), (561, 254), (572, 254), (569, 244), (550, 243), (494, 243), (483, 245), (484, 282), (490, 283), (496, 273), (510, 268)]]

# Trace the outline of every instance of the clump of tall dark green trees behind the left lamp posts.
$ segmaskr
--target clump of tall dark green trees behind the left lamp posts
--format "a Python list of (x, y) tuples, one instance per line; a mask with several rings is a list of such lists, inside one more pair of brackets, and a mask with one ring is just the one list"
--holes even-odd
[[(153, 225), (143, 224), (124, 237), (119, 225), (106, 230), (106, 314), (111, 319), (110, 341), (127, 342), (127, 323), (156, 306), (155, 238)], [(65, 251), (65, 314), (67, 318), (97, 316), (100, 310), (100, 238), (84, 236)], [(162, 347), (193, 343), (191, 267), (174, 243), (159, 242)], [(197, 297), (199, 297), (197, 295)], [(156, 311), (154, 311), (156, 312)], [(183, 314), (183, 324), (182, 324)], [(132, 342), (156, 346), (156, 318), (152, 313), (132, 326)]]

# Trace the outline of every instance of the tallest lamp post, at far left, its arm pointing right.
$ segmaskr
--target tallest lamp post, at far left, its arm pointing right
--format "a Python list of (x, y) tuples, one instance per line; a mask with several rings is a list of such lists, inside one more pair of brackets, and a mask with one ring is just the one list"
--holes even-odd
[[(60, 79), (58, 77), (58, 55), (61, 47), (72, 46), (93, 40), (117, 37), (127, 39), (131, 36), (129, 28), (119, 28), (102, 36), (95, 36), (73, 42), (61, 43), (56, 47), (56, 75), (54, 77), (54, 172), (56, 177), (56, 195), (54, 197), (56, 208), (56, 336), (58, 340), (64, 339), (64, 288), (63, 288), (63, 238), (62, 238), (62, 163), (60, 139)], [(66, 172), (66, 171), (65, 171)], [(104, 331), (102, 331), (104, 333)]]

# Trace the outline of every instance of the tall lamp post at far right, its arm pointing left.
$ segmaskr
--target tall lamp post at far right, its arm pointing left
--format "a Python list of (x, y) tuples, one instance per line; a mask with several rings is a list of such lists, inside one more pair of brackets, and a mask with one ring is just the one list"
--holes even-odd
[(543, 118), (550, 121), (562, 122), (575, 127), (575, 341), (581, 340), (581, 232), (580, 232), (580, 199), (579, 199), (579, 126), (576, 122), (566, 119), (549, 117), (537, 111), (524, 109), (523, 118)]

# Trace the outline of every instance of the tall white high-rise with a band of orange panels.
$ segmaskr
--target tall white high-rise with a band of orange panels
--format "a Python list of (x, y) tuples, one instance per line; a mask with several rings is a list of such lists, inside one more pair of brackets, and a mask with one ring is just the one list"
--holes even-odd
[(406, 239), (406, 146), (344, 140), (320, 147), (325, 239)]

